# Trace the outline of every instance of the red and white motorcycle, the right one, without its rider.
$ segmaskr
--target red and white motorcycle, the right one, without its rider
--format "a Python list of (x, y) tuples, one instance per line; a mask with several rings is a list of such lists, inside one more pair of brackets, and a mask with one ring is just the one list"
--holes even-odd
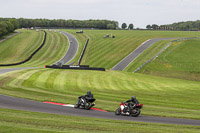
[(121, 102), (120, 107), (115, 111), (115, 115), (128, 115), (137, 117), (140, 115), (141, 108), (143, 107), (143, 104), (130, 104), (130, 107), (128, 106), (128, 103)]

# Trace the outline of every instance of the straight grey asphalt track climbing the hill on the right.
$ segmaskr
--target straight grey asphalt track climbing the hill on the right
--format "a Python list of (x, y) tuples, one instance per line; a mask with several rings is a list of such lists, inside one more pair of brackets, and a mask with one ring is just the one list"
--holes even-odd
[(172, 40), (172, 39), (177, 39), (177, 38), (157, 38), (145, 41), (137, 49), (135, 49), (128, 56), (122, 59), (118, 64), (116, 64), (111, 70), (123, 71), (132, 61), (134, 61), (140, 54), (142, 54), (147, 48), (149, 48), (154, 43), (162, 40)]

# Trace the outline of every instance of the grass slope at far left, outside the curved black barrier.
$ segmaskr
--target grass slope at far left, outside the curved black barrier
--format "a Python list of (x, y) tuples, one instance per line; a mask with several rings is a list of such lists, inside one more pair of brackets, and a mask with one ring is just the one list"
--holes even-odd
[(21, 33), (0, 43), (0, 64), (25, 60), (43, 40), (42, 31), (19, 30)]

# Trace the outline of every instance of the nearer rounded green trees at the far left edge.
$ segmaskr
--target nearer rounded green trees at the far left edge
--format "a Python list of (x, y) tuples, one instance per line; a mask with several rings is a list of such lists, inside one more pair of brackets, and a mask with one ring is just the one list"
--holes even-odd
[(16, 19), (0, 18), (0, 36), (6, 35), (19, 28), (19, 23)]

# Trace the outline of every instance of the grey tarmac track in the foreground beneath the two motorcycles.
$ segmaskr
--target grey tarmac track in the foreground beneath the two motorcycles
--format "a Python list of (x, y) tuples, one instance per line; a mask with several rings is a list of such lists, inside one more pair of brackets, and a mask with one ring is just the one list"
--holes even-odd
[(32, 112), (43, 112), (50, 114), (104, 118), (113, 120), (200, 126), (200, 120), (177, 119), (177, 118), (154, 117), (154, 116), (139, 116), (139, 117), (116, 116), (114, 112), (101, 112), (96, 110), (75, 109), (72, 107), (52, 105), (52, 104), (15, 98), (10, 96), (4, 96), (4, 95), (0, 95), (0, 108), (9, 108), (9, 109), (25, 110)]

